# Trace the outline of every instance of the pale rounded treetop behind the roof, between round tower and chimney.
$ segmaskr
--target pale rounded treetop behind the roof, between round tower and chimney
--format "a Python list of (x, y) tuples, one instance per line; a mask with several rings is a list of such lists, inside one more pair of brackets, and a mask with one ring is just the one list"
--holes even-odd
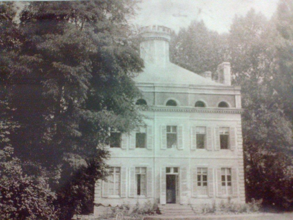
[(173, 34), (171, 61), (199, 74), (215, 72), (217, 65), (225, 60), (226, 49), (225, 35), (209, 31), (203, 21), (193, 21), (188, 28)]

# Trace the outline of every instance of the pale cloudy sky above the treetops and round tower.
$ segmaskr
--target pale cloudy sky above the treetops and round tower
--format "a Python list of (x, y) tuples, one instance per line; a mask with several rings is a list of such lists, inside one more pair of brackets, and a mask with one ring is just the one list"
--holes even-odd
[(269, 19), (277, 4), (278, 0), (142, 0), (132, 23), (164, 25), (178, 32), (191, 21), (203, 20), (210, 30), (225, 33), (235, 14), (245, 16), (253, 8)]

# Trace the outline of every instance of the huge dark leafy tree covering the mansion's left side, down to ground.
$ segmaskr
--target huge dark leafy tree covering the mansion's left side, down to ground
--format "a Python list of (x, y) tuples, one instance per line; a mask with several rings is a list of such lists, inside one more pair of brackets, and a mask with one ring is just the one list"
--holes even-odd
[(92, 211), (109, 128), (127, 132), (141, 120), (131, 76), (143, 63), (126, 19), (135, 5), (30, 2), (20, 14), (21, 35), (6, 36), (18, 45), (1, 69), (12, 121), (19, 123), (9, 135), (14, 156), (32, 178), (49, 180), (58, 219)]

